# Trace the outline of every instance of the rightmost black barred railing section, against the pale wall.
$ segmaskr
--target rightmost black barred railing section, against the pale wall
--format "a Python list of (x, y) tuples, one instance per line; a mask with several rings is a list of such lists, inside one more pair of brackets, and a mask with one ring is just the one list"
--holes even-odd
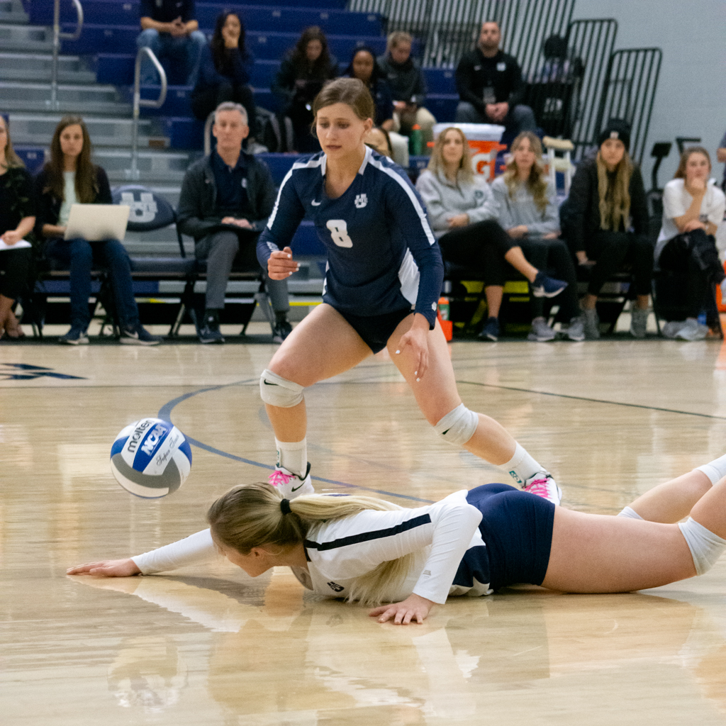
[(610, 118), (629, 121), (630, 155), (639, 164), (648, 140), (662, 60), (660, 48), (627, 48), (614, 52), (608, 62), (595, 118), (595, 129), (601, 129)]

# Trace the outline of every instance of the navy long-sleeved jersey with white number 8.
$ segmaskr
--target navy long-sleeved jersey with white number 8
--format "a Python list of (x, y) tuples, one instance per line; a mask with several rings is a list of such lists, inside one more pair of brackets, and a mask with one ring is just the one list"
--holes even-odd
[(257, 243), (260, 264), (290, 245), (307, 214), (327, 249), (323, 300), (362, 317), (415, 306), (436, 322), (444, 264), (426, 210), (407, 174), (367, 148), (353, 183), (338, 199), (325, 193), (324, 153), (293, 164)]

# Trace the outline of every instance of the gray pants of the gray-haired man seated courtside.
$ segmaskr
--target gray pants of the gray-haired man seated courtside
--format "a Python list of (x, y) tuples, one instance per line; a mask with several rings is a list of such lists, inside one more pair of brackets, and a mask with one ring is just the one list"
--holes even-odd
[[(240, 236), (231, 230), (213, 232), (202, 237), (195, 243), (194, 253), (197, 260), (207, 261), (207, 295), (205, 308), (221, 310), (224, 308), (224, 293), (227, 292), (227, 280), (232, 272), (232, 265), (242, 270), (258, 270), (256, 242), (259, 232), (243, 230), (242, 244)], [(262, 271), (265, 287), (270, 296), (272, 309), (276, 313), (290, 310), (287, 298), (287, 280), (270, 280), (267, 272)]]

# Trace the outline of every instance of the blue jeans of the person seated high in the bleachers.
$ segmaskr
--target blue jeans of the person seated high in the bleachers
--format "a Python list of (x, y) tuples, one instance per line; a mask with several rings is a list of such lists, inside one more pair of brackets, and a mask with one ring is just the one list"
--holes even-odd
[[(142, 30), (136, 38), (136, 46), (150, 48), (170, 76), (169, 83), (186, 83), (193, 86), (199, 71), (199, 58), (207, 38), (201, 30), (194, 30), (183, 38), (173, 38), (169, 33), (158, 30)], [(164, 63), (164, 61), (170, 63)], [(159, 83), (159, 77), (152, 62), (144, 57), (141, 65), (141, 82), (144, 85)]]

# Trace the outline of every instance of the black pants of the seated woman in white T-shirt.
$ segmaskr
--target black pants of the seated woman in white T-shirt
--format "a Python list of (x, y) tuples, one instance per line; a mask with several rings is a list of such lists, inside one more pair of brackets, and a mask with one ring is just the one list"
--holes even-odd
[(716, 240), (703, 229), (677, 234), (668, 240), (658, 266), (665, 272), (685, 275), (687, 317), (698, 317), (713, 298), (713, 286), (724, 278)]

